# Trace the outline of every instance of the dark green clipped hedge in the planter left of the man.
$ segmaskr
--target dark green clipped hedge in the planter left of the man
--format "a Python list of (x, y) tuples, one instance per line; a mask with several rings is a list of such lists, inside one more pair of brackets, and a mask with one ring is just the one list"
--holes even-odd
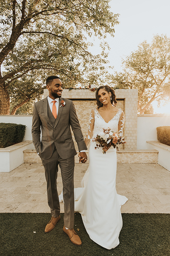
[(25, 131), (23, 124), (0, 123), (0, 148), (22, 142)]

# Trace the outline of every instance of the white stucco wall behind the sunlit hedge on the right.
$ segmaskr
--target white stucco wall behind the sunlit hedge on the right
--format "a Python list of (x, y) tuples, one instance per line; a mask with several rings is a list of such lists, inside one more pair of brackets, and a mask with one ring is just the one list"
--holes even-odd
[(157, 127), (170, 126), (170, 115), (137, 117), (137, 149), (147, 149), (147, 140), (157, 140)]

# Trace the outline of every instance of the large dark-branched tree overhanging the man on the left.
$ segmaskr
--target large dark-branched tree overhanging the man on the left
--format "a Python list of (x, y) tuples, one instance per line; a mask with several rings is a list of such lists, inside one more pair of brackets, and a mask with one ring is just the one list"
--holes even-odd
[(106, 54), (93, 56), (84, 35), (114, 35), (118, 15), (109, 0), (0, 0), (0, 6), (0, 114), (10, 113), (10, 96), (12, 114), (38, 98), (50, 74), (70, 87), (99, 82)]

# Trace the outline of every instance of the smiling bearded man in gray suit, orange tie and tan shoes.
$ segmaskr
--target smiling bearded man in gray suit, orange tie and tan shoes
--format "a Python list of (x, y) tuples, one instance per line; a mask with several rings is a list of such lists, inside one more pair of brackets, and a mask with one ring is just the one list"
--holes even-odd
[[(58, 76), (49, 76), (46, 80), (49, 96), (34, 104), (32, 137), (35, 150), (39, 154), (45, 169), (47, 198), (51, 209), (51, 220), (45, 227), (50, 232), (60, 220), (60, 203), (57, 193), (58, 164), (61, 169), (64, 199), (63, 231), (75, 245), (81, 245), (74, 226), (74, 148), (72, 133), (80, 151), (80, 161), (86, 162), (86, 145), (72, 101), (61, 98), (62, 81)], [(40, 140), (40, 134), (42, 138)]]

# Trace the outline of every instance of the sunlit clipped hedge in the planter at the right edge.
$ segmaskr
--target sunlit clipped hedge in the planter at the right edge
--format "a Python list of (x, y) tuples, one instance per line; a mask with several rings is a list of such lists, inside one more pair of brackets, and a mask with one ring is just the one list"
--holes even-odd
[(170, 126), (157, 127), (157, 138), (159, 142), (170, 146)]

